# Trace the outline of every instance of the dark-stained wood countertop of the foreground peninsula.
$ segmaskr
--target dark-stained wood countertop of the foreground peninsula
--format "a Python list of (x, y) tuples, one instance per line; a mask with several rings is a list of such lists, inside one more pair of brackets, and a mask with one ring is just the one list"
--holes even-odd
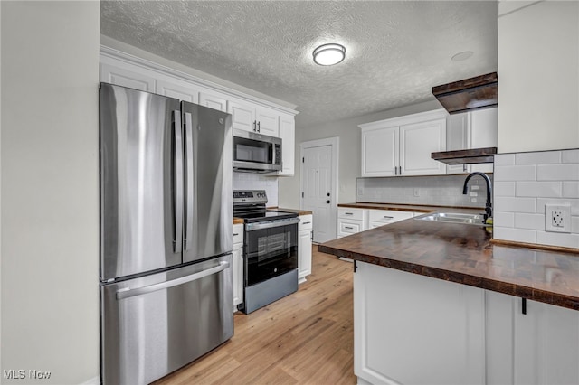
[(481, 226), (409, 219), (330, 240), (318, 250), (579, 310), (579, 253), (493, 243)]

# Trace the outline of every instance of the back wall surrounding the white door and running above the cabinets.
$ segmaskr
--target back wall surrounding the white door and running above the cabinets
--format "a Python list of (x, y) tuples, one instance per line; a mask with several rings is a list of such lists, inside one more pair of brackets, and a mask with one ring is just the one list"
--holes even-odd
[(394, 108), (362, 117), (328, 122), (316, 127), (296, 127), (296, 172), (292, 177), (279, 178), (279, 206), (299, 209), (299, 167), (301, 162), (299, 145), (302, 142), (339, 136), (340, 159), (338, 165), (337, 203), (356, 202), (356, 178), (360, 176), (361, 159), (360, 128), (357, 126), (375, 120), (401, 117), (438, 108), (441, 108), (441, 104), (432, 97), (431, 101), (403, 108)]

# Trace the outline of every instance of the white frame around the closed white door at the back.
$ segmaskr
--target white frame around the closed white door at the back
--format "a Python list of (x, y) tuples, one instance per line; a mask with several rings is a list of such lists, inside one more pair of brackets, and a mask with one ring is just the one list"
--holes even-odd
[[(301, 142), (299, 144), (299, 157), (302, 159), (301, 163), (299, 164), (299, 208), (301, 210), (304, 209), (304, 198), (303, 198), (303, 192), (304, 192), (304, 150), (307, 148), (313, 148), (313, 147), (320, 147), (320, 146), (330, 146), (331, 147), (331, 153), (332, 153), (332, 160), (331, 160), (331, 164), (332, 164), (332, 172), (331, 172), (331, 178), (332, 178), (332, 183), (330, 183), (330, 194), (332, 197), (332, 202), (330, 204), (330, 218), (329, 221), (330, 223), (333, 224), (332, 226), (332, 234), (334, 235), (334, 239), (337, 238), (337, 192), (338, 192), (338, 166), (339, 166), (339, 159), (340, 159), (340, 138), (339, 136), (332, 136), (332, 137), (327, 137), (324, 139), (317, 139), (317, 140), (308, 140), (306, 142)], [(314, 221), (316, 219), (314, 218)]]

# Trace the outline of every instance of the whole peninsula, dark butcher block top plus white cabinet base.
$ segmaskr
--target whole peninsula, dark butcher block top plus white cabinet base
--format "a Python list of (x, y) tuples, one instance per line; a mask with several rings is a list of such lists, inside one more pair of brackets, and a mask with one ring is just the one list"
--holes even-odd
[(579, 253), (416, 218), (318, 245), (354, 259), (357, 383), (579, 383)]

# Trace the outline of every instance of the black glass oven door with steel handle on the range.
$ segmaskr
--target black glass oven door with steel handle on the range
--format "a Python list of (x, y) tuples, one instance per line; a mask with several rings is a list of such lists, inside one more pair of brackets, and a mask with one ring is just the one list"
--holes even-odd
[(250, 223), (245, 229), (245, 286), (298, 268), (298, 218)]

